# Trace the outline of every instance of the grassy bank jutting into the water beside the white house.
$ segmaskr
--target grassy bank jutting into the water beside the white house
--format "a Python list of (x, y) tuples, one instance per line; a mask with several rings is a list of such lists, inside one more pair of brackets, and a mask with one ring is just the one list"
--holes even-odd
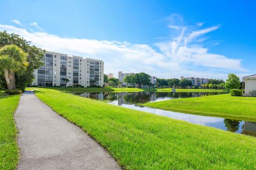
[(256, 98), (253, 97), (234, 97), (230, 96), (230, 94), (225, 94), (157, 101), (143, 105), (166, 111), (255, 121), (255, 103)]

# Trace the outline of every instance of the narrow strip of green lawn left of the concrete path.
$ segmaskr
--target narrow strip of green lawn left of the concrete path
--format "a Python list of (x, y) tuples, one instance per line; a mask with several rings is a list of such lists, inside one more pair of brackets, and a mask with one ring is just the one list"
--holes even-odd
[(0, 169), (15, 169), (18, 163), (17, 130), (13, 113), (20, 95), (4, 96), (0, 92)]

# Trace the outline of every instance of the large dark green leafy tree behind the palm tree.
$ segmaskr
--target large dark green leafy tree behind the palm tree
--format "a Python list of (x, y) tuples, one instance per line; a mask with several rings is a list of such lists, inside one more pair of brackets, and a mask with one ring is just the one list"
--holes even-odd
[[(27, 62), (28, 67), (26, 70), (15, 71), (15, 85), (21, 90), (25, 90), (26, 86), (31, 84), (34, 79), (34, 70), (38, 69), (44, 63), (41, 61), (45, 55), (45, 50), (36, 46), (30, 45), (29, 41), (21, 38), (14, 33), (7, 33), (6, 31), (0, 32), (0, 48), (6, 45), (17, 45), (23, 52), (28, 54)], [(4, 78), (4, 72), (0, 72), (1, 87), (7, 88), (7, 84)]]

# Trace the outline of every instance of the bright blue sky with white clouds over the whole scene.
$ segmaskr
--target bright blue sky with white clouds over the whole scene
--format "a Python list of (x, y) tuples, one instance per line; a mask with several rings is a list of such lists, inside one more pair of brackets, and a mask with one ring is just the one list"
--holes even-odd
[(255, 1), (1, 1), (0, 30), (93, 57), (105, 73), (226, 79), (256, 73)]

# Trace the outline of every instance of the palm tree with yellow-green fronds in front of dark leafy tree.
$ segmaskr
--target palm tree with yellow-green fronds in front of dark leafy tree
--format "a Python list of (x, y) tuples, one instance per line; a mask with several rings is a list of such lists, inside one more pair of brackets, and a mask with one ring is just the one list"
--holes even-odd
[(4, 71), (4, 77), (8, 90), (15, 89), (15, 71), (27, 68), (27, 53), (16, 45), (6, 45), (0, 48), (0, 70)]

